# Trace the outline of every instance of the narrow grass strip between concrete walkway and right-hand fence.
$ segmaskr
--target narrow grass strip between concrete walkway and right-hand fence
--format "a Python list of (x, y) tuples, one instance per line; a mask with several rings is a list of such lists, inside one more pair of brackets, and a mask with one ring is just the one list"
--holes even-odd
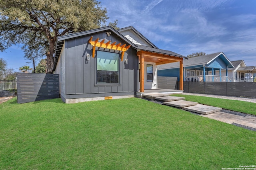
[(256, 115), (256, 104), (251, 102), (220, 99), (220, 98), (210, 98), (210, 97), (204, 97), (204, 96), (192, 96), (192, 95), (184, 95), (184, 94), (174, 94), (172, 96), (184, 97), (186, 98), (185, 100), (187, 101), (198, 102), (200, 104), (221, 107), (223, 109)]

